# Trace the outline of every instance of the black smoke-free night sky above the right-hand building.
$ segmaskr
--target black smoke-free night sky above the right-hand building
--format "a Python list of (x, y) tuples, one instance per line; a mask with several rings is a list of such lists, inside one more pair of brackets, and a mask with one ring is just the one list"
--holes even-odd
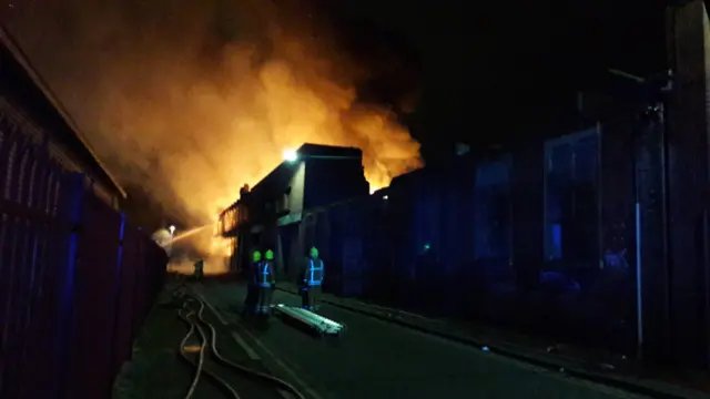
[(666, 69), (662, 1), (414, 3), (338, 2), (342, 13), (386, 27), (418, 53), (424, 101), (413, 129), (425, 143), (524, 131), (551, 104), (574, 106), (575, 90), (606, 82), (607, 68)]

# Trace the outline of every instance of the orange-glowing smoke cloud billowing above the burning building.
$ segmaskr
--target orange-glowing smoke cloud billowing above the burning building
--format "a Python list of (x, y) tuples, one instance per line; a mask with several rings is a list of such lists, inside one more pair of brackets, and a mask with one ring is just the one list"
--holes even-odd
[(13, 18), (108, 168), (189, 224), (305, 142), (362, 149), (373, 186), (420, 166), (396, 115), (357, 101), (367, 69), (303, 2), (54, 0)]

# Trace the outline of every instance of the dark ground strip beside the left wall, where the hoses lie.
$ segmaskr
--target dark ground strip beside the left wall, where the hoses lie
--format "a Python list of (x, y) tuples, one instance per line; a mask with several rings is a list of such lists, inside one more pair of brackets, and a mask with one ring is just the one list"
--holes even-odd
[[(163, 293), (141, 329), (134, 344), (133, 359), (124, 365), (114, 383), (116, 399), (179, 399), (185, 398), (193, 378), (195, 367), (179, 355), (181, 341), (189, 331), (189, 325), (178, 317), (184, 298), (175, 299), (170, 294), (171, 287)], [(196, 306), (192, 305), (193, 308)], [(239, 345), (233, 326), (221, 323), (217, 315), (205, 308), (204, 319), (216, 330), (216, 347), (220, 355), (248, 370), (271, 375), (264, 364)], [(205, 334), (210, 334), (205, 325), (201, 325)], [(201, 342), (197, 336), (185, 341), (186, 355), (197, 360)], [(277, 389), (274, 383), (255, 378), (248, 372), (225, 367), (211, 351), (205, 351), (204, 368), (227, 382), (242, 399), (291, 398)], [(201, 375), (195, 386), (194, 399), (234, 398), (224, 386), (216, 383), (206, 375)]]

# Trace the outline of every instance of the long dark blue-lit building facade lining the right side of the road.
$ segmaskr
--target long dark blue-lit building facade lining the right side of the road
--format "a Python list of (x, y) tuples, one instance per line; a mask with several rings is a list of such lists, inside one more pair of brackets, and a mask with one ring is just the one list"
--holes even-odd
[(710, 22), (701, 1), (667, 17), (670, 75), (302, 216), (292, 235), (328, 248), (331, 289), (362, 287), (342, 294), (707, 368)]

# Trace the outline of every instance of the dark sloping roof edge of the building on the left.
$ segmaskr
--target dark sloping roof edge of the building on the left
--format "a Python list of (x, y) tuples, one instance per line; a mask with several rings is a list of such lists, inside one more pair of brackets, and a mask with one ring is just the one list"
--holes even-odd
[[(52, 141), (64, 146), (92, 177), (106, 188), (125, 198), (123, 187), (101, 163), (71, 115), (64, 110), (57, 95), (32, 68), (12, 34), (0, 24), (0, 73), (6, 84), (14, 90), (23, 106), (32, 108), (32, 119), (41, 121)], [(9, 79), (8, 79), (9, 78)], [(20, 90), (17, 90), (20, 88)]]

